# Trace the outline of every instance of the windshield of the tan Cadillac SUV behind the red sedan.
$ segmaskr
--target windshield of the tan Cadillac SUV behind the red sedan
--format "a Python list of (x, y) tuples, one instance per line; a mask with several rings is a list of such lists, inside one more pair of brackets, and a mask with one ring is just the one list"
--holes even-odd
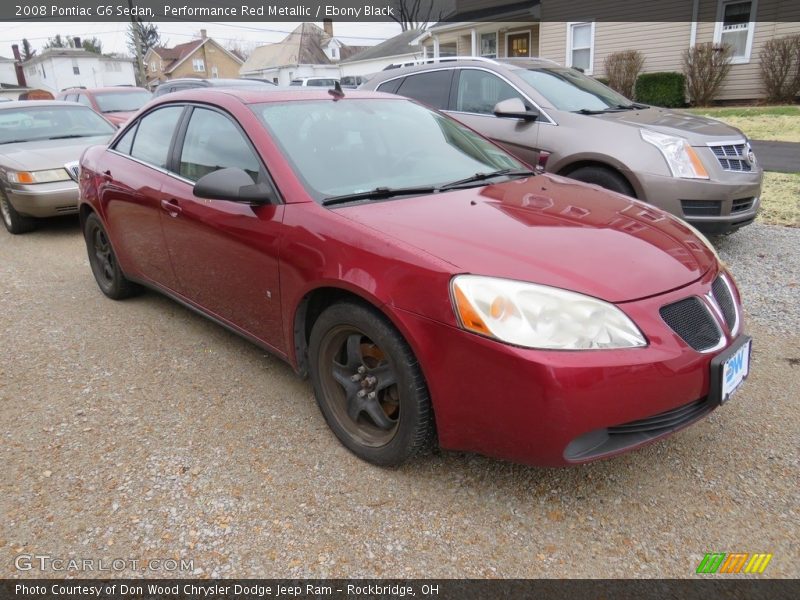
[(553, 108), (565, 111), (604, 111), (630, 106), (631, 101), (575, 69), (544, 67), (516, 71)]

